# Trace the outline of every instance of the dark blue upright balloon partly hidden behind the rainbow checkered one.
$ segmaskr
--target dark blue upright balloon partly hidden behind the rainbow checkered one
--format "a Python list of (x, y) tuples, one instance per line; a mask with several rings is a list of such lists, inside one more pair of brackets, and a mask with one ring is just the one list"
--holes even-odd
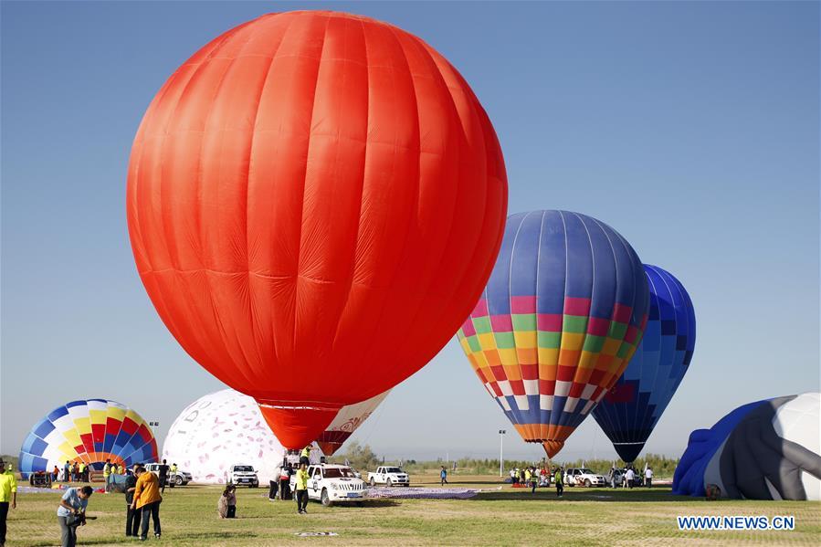
[(620, 458), (634, 461), (689, 369), (696, 316), (687, 290), (668, 271), (645, 265), (650, 316), (625, 373), (593, 411)]

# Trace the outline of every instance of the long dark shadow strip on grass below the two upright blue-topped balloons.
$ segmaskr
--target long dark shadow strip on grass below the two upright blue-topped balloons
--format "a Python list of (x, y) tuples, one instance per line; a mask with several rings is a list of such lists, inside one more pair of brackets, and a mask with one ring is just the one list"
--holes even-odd
[(603, 502), (668, 502), (680, 503), (681, 501), (699, 500), (689, 496), (674, 496), (668, 489), (564, 489), (564, 496), (556, 496), (554, 489), (537, 489), (535, 494), (529, 490), (522, 491), (500, 490), (498, 492), (479, 492), (479, 495), (470, 498), (471, 501), (603, 501)]

